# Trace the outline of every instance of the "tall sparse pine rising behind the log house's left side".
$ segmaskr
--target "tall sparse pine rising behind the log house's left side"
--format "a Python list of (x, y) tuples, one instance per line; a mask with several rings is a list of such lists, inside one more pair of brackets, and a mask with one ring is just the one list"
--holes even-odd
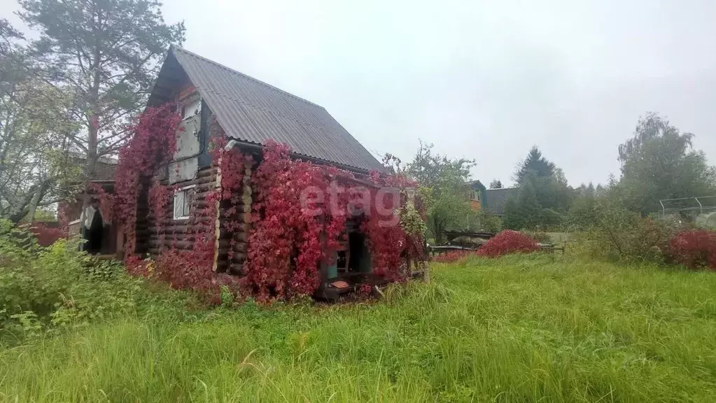
[(145, 107), (169, 44), (184, 39), (183, 22), (165, 24), (156, 0), (19, 0), (19, 16), (39, 29), (32, 57), (72, 99), (82, 130), (69, 142), (86, 155), (84, 173), (126, 142), (127, 122)]

